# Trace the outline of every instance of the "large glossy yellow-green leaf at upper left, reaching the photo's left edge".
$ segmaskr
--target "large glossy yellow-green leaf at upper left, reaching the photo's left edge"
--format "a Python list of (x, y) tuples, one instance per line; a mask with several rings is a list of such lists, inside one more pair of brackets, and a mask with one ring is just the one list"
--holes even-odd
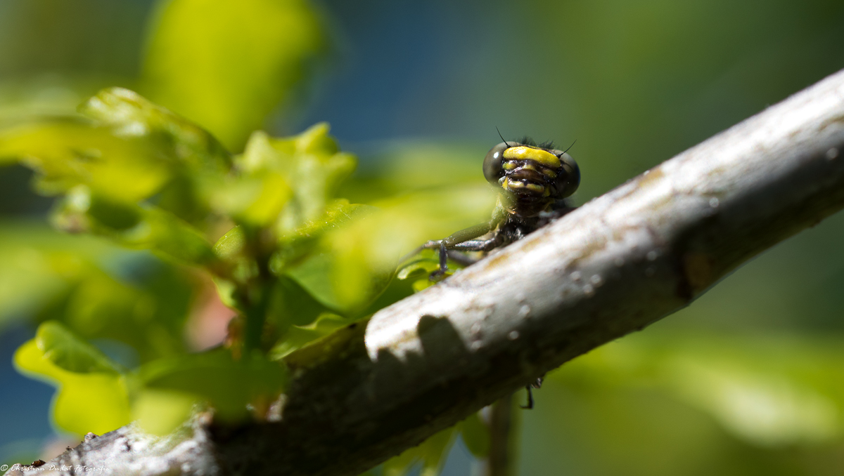
[[(225, 198), (219, 184), (231, 181), (232, 158), (208, 131), (123, 88), (100, 91), (79, 111), (86, 117), (0, 129), (0, 162), (19, 160), (34, 168), (36, 189), (45, 195), (69, 193), (81, 185), (116, 202), (157, 194), (160, 207), (199, 224), (210, 213), (208, 190)], [(274, 192), (278, 186), (279, 180), (271, 180), (265, 188)], [(244, 188), (258, 204), (283, 205), (249, 183), (228, 195), (244, 195)], [(250, 210), (246, 217), (261, 211)]]

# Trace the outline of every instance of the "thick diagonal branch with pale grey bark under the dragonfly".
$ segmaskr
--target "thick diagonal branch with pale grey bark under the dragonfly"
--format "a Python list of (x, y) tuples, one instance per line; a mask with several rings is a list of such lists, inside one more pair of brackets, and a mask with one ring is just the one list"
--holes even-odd
[(683, 308), (839, 210), (841, 152), (844, 72), (289, 356), (277, 421), (197, 419), (166, 444), (126, 427), (57, 461), (116, 474), (360, 473)]

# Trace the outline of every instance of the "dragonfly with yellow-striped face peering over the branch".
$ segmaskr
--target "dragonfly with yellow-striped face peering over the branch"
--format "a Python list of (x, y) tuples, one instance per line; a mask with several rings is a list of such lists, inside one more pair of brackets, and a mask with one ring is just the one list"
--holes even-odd
[[(475, 259), (465, 252), (486, 254), (533, 233), (554, 222), (576, 207), (568, 197), (580, 185), (580, 168), (568, 151), (554, 148), (553, 142), (537, 144), (525, 136), (518, 141), (501, 141), (484, 158), (484, 178), (500, 190), (489, 222), (452, 233), (446, 238), (431, 240), (409, 256), (423, 249), (439, 250), (439, 269), (430, 274), (431, 281), (441, 280), (448, 270), (448, 259), (470, 265)], [(532, 388), (542, 385), (542, 377), (526, 386), (527, 405), (533, 408)]]

